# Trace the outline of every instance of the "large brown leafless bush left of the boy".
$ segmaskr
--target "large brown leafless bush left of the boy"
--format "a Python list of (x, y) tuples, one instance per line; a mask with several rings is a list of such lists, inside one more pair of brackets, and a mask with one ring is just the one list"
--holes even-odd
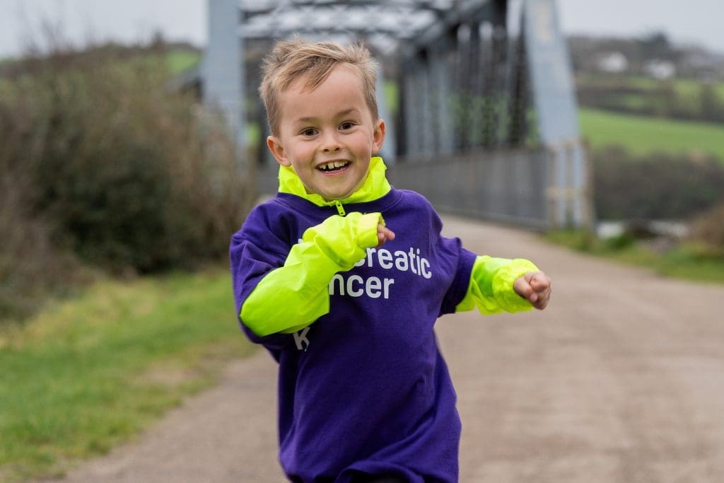
[(0, 186), (12, 190), (0, 228), (20, 241), (1, 249), (0, 306), (17, 295), (9, 285), (38, 285), (33, 264), (146, 273), (226, 256), (250, 179), (220, 117), (169, 91), (163, 66), (112, 49), (56, 53), (3, 85)]

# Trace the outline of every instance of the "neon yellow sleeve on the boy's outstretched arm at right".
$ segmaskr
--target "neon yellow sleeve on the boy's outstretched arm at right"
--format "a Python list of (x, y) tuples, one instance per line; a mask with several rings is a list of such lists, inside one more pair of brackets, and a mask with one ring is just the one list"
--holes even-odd
[(481, 314), (521, 312), (533, 308), (529, 301), (513, 290), (513, 282), (528, 272), (538, 272), (538, 267), (525, 259), (499, 259), (478, 256), (473, 264), (470, 285), (456, 312), (478, 308)]

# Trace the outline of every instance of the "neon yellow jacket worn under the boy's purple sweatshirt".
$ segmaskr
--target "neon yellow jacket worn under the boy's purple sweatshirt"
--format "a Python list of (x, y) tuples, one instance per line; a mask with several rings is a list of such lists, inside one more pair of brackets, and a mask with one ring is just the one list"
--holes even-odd
[[(346, 213), (344, 206), (386, 195), (391, 189), (384, 175), (386, 169), (382, 158), (372, 158), (369, 175), (359, 190), (349, 198), (324, 201), (319, 195), (306, 193), (292, 167), (280, 167), (279, 192), (300, 196), (316, 206), (336, 206), (338, 214), (303, 232), (285, 264), (271, 270), (254, 287), (239, 314), (252, 332), (259, 337), (297, 332), (329, 312), (330, 280), (337, 272), (352, 269), (366, 256), (366, 248), (377, 245), (377, 225), (384, 224), (379, 212)], [(530, 310), (531, 304), (513, 290), (513, 282), (537, 270), (524, 259), (478, 256), (468, 291), (455, 311), (476, 307), (481, 314)]]

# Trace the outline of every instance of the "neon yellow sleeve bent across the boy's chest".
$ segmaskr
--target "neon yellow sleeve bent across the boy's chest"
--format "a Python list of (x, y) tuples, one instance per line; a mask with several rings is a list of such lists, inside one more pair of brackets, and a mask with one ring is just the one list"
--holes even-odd
[(329, 312), (329, 281), (377, 244), (379, 213), (333, 215), (308, 228), (283, 266), (261, 279), (244, 301), (240, 319), (260, 337), (296, 332)]

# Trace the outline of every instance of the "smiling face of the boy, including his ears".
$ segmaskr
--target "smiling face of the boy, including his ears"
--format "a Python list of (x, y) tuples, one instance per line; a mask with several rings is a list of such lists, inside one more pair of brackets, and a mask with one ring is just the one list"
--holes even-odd
[(334, 67), (313, 91), (302, 91), (302, 84), (295, 80), (279, 96), (279, 135), (266, 144), (279, 164), (294, 168), (309, 193), (327, 201), (347, 198), (382, 148), (384, 121), (373, 121), (351, 67)]

